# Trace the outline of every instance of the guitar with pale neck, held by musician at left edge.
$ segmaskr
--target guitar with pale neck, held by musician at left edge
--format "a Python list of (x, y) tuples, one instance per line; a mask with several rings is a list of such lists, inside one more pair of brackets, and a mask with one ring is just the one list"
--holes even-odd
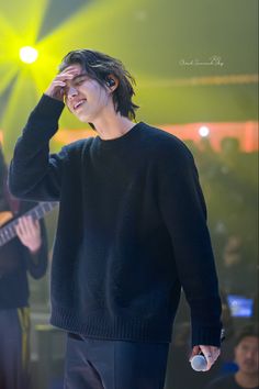
[[(40, 202), (36, 207), (25, 212), (22, 216), (32, 216), (34, 220), (42, 219), (46, 213), (57, 207), (57, 204), (58, 202)], [(0, 247), (16, 236), (15, 225), (21, 216), (8, 223), (8, 221), (12, 218), (13, 215), (11, 212), (0, 213), (0, 226), (4, 224), (0, 227)]]

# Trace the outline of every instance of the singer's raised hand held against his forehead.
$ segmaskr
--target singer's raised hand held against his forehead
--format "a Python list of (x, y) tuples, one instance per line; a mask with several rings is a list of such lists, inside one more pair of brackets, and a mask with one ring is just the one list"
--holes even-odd
[(45, 95), (59, 101), (64, 101), (64, 91), (67, 86), (67, 81), (79, 75), (79, 73), (78, 66), (68, 66), (53, 79), (52, 84), (45, 91)]

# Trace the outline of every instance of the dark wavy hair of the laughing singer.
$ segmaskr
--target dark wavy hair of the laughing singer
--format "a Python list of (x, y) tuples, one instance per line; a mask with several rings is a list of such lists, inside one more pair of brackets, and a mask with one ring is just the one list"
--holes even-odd
[(106, 85), (109, 76), (114, 76), (119, 80), (119, 86), (113, 91), (115, 110), (120, 112), (121, 115), (135, 120), (135, 111), (139, 108), (132, 101), (135, 95), (133, 86), (135, 86), (136, 82), (121, 60), (87, 48), (76, 49), (69, 52), (63, 58), (59, 65), (59, 71), (63, 71), (74, 64), (81, 65), (86, 74), (97, 80), (102, 87)]

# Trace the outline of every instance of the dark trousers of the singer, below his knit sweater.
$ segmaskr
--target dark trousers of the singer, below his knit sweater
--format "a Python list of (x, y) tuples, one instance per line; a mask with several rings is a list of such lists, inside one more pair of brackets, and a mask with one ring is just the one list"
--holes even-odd
[(65, 389), (162, 389), (169, 344), (68, 334)]

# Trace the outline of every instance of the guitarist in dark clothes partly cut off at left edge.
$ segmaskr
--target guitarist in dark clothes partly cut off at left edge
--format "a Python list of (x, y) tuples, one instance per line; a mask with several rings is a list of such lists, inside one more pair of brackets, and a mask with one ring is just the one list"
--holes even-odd
[[(7, 166), (0, 145), (1, 214), (20, 216), (35, 205), (12, 198), (7, 189)], [(0, 388), (30, 388), (30, 310), (27, 273), (35, 279), (47, 269), (47, 243), (43, 223), (19, 218), (16, 235), (0, 247)]]

